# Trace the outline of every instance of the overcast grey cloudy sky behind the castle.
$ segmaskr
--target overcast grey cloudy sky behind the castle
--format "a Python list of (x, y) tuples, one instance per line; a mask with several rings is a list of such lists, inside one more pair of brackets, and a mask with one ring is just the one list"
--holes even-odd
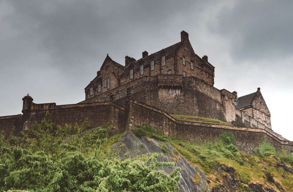
[(218, 89), (258, 87), (272, 129), (293, 141), (293, 1), (0, 0), (0, 116), (78, 103), (107, 55), (120, 64), (180, 41), (215, 67)]

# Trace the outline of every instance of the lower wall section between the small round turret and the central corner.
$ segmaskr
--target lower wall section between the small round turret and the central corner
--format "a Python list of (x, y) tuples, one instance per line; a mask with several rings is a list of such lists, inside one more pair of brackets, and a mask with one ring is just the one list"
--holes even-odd
[[(47, 109), (32, 110), (26, 119), (25, 129), (33, 123), (40, 123), (45, 118)], [(125, 109), (113, 102), (100, 102), (92, 104), (57, 105), (54, 109), (48, 109), (54, 124), (82, 124), (89, 119), (88, 127), (98, 127), (109, 123), (118, 131), (125, 129)]]

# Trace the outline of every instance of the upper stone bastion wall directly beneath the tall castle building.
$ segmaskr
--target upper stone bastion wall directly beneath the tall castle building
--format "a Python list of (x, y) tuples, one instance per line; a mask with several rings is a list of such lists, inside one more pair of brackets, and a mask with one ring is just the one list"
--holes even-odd
[(231, 95), (228, 91), (220, 91), (194, 77), (157, 75), (139, 78), (81, 103), (115, 101), (126, 107), (127, 100), (134, 99), (169, 114), (232, 122), (235, 120), (235, 107)]

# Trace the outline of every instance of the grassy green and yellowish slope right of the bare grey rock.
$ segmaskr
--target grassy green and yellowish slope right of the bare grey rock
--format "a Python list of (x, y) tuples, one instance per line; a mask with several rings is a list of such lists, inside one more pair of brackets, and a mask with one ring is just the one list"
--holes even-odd
[[(176, 115), (175, 117), (179, 116)], [(235, 137), (231, 132), (222, 132), (219, 138), (214, 141), (191, 143), (184, 139), (167, 137), (150, 126), (140, 126), (138, 129), (139, 131), (134, 131), (134, 133), (143, 133), (147, 137), (169, 141), (177, 149), (176, 153), (180, 153), (193, 166), (199, 166), (205, 172), (207, 179), (210, 181), (210, 189), (219, 187), (220, 183), (216, 178), (221, 181), (222, 176), (228, 174), (225, 173), (226, 167), (234, 167), (234, 174), (241, 182), (238, 188), (239, 191), (246, 191), (249, 187), (248, 183), (260, 183), (263, 185), (270, 183), (270, 186), (274, 187), (275, 190), (277, 190), (277, 183), (280, 183), (285, 191), (293, 190), (293, 174), (284, 171), (282, 167), (276, 168), (277, 160), (273, 158), (273, 156), (277, 156), (283, 161), (288, 159), (285, 162), (290, 166), (290, 154), (260, 154), (259, 151), (263, 149), (270, 149), (269, 151), (274, 152), (272, 146), (266, 142), (260, 144), (256, 154), (244, 154), (235, 146)], [(215, 165), (222, 169), (223, 173), (221, 175), (215, 173)], [(223, 182), (221, 181), (221, 183)]]

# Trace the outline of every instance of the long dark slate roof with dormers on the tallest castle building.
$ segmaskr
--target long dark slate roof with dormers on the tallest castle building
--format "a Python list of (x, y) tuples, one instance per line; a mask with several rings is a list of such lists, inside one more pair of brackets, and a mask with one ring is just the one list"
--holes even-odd
[[(181, 45), (181, 43), (182, 42), (180, 41), (179, 43), (175, 43), (174, 45), (171, 45), (171, 46), (169, 46), (167, 48), (164, 48), (162, 50), (157, 51), (156, 53), (149, 54), (145, 58), (142, 58), (144, 60), (144, 62), (145, 62), (144, 65), (147, 65), (147, 64), (150, 63), (150, 58), (151, 58), (152, 55), (156, 57), (155, 61), (161, 59), (162, 51), (166, 52), (167, 55), (175, 53), (176, 49)], [(134, 62), (132, 62), (130, 64), (134, 65), (134, 69), (137, 69), (137, 68), (139, 68), (139, 61), (140, 61), (140, 59), (136, 60), (136, 61), (134, 61)], [(128, 66), (130, 66), (130, 64)], [(130, 71), (128, 66), (125, 67), (125, 70), (122, 71), (122, 73), (120, 75), (123, 75), (123, 74), (128, 73)]]

